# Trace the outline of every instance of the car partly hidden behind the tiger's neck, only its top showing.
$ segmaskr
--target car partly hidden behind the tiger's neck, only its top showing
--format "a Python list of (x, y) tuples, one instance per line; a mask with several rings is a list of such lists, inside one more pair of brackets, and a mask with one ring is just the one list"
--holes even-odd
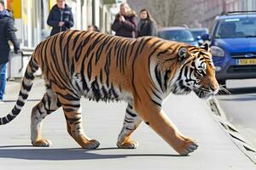
[(159, 37), (171, 41), (187, 42), (191, 45), (198, 46), (198, 42), (192, 36), (189, 29), (185, 27), (162, 28), (159, 30)]

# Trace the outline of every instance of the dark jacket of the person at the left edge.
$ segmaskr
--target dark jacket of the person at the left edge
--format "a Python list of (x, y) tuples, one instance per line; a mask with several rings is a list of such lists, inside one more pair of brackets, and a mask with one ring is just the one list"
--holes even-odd
[(20, 49), (20, 43), (15, 36), (14, 20), (7, 10), (0, 12), (0, 64), (9, 61), (9, 41), (14, 45), (15, 51)]

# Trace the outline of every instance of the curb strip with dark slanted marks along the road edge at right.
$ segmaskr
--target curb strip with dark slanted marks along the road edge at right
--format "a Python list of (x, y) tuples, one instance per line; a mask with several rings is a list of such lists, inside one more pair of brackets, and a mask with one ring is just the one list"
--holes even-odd
[(247, 143), (246, 139), (241, 136), (239, 130), (227, 120), (224, 111), (218, 103), (218, 99), (212, 98), (207, 103), (214, 114), (215, 120), (219, 122), (233, 143), (236, 144), (239, 150), (241, 150), (241, 152), (243, 152), (251, 161), (253, 161), (253, 163), (256, 164), (256, 150), (251, 144)]

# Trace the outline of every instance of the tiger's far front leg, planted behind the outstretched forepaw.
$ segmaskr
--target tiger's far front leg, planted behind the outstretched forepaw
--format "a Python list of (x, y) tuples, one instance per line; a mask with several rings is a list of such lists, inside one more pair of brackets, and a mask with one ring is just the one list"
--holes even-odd
[(125, 111), (125, 121), (122, 127), (121, 132), (119, 133), (119, 138), (117, 142), (117, 146), (122, 149), (136, 149), (138, 146), (137, 141), (131, 140), (131, 133), (135, 131), (135, 129), (142, 122), (140, 116), (137, 115), (136, 111), (133, 110), (133, 106), (128, 104)]

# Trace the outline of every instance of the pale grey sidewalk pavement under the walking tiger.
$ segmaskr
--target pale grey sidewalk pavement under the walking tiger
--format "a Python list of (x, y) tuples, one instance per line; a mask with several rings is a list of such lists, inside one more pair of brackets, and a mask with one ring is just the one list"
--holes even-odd
[[(20, 88), (17, 82), (8, 82), (8, 99), (16, 99)], [(43, 94), (42, 80), (35, 81), (29, 98)], [(15, 89), (15, 90), (14, 90)], [(15, 94), (16, 93), (16, 94)], [(115, 143), (124, 119), (124, 103), (103, 103), (82, 99), (84, 130), (101, 142), (97, 150), (81, 150), (67, 134), (61, 110), (44, 120), (43, 135), (53, 142), (49, 149), (30, 146), (30, 111), (38, 101), (29, 100), (14, 122), (0, 127), (1, 169), (174, 169), (174, 170), (254, 170), (256, 165), (230, 139), (205, 100), (195, 94), (171, 95), (164, 110), (189, 137), (198, 140), (199, 148), (190, 156), (177, 152), (148, 128), (145, 123), (132, 136), (137, 139), (136, 150), (119, 150)], [(1, 105), (0, 116), (11, 110), (14, 102)]]

